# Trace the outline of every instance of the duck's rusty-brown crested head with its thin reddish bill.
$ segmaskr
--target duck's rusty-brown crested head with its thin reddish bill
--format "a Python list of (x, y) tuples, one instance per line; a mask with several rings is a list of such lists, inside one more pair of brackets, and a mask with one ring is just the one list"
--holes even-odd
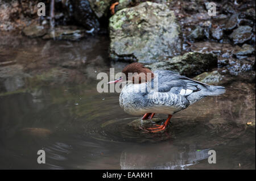
[(123, 68), (122, 73), (125, 74), (125, 77), (120, 77), (119, 79), (109, 82), (133, 82), (133, 83), (144, 83), (150, 82), (152, 78), (154, 78), (154, 74), (148, 68), (145, 68), (141, 63), (135, 62), (127, 65)]

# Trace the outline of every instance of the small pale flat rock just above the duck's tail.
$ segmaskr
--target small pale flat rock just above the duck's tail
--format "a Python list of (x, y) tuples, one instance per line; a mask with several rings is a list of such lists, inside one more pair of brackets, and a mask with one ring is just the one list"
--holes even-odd
[(196, 81), (204, 82), (204, 83), (218, 83), (222, 80), (224, 75), (221, 75), (218, 73), (217, 70), (214, 70), (212, 72), (204, 72), (203, 74), (197, 75), (195, 78)]

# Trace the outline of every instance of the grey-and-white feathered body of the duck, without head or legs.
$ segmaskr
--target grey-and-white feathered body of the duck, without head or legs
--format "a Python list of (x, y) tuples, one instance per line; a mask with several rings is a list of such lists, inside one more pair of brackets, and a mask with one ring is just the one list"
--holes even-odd
[[(128, 83), (123, 88), (119, 103), (125, 112), (132, 115), (143, 115), (148, 112), (172, 115), (205, 96), (225, 92), (225, 87), (210, 86), (169, 70), (156, 70), (154, 75), (151, 82)], [(143, 86), (146, 89), (143, 89)]]

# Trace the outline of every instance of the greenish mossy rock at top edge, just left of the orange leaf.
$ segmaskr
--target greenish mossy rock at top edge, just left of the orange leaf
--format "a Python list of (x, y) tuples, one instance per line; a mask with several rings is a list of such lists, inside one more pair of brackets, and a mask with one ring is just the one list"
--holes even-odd
[(88, 0), (90, 2), (90, 7), (96, 14), (98, 18), (106, 15), (109, 11), (111, 0)]

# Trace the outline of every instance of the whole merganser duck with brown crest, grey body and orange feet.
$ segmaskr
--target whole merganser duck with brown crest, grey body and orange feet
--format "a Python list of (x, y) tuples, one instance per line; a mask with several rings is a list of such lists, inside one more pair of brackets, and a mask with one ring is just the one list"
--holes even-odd
[[(210, 86), (170, 70), (152, 72), (137, 62), (127, 65), (122, 73), (126, 75), (126, 79), (123, 76), (109, 83), (127, 82), (119, 96), (119, 104), (125, 112), (144, 115), (142, 120), (152, 119), (155, 113), (168, 114), (163, 125), (147, 128), (150, 132), (164, 130), (174, 113), (184, 110), (198, 100), (225, 92), (225, 87)], [(131, 74), (133, 75), (129, 77)], [(142, 74), (146, 76), (143, 77)]]

